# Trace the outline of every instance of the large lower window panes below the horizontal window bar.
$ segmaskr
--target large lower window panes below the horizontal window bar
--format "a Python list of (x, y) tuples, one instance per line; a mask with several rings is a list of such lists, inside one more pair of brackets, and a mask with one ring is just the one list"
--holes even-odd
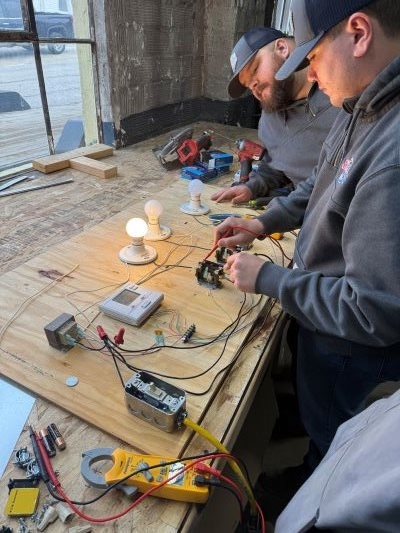
[[(3, 44), (0, 171), (49, 155), (32, 45)], [(66, 44), (54, 54), (50, 46), (41, 45), (42, 66), (54, 148), (61, 153), (98, 141), (91, 52), (87, 44)]]

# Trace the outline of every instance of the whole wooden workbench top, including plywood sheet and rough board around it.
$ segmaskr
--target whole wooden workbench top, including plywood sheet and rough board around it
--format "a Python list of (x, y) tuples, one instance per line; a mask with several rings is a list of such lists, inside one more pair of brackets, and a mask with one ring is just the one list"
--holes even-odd
[[(255, 138), (253, 130), (238, 131), (215, 124), (197, 124), (195, 131), (200, 133), (210, 127), (221, 134), (215, 135), (214, 146), (227, 151), (233, 151), (233, 142), (227, 143), (227, 138), (232, 141), (245, 135)], [(99, 295), (106, 295), (127, 278), (128, 270), (118, 259), (119, 249), (129, 243), (125, 223), (132, 216), (143, 216), (143, 204), (150, 197), (159, 197), (164, 205), (162, 223), (174, 232), (170, 241), (181, 243), (179, 247), (171, 242), (150, 243), (158, 250), (158, 261), (171, 253), (168, 263), (181, 261), (182, 266), (189, 268), (172, 268), (148, 282), (149, 287), (165, 293), (162, 307), (165, 313), (155, 314), (142, 328), (129, 328), (126, 344), (149, 346), (154, 339), (155, 327), (169, 331), (170, 335), (176, 334), (179, 329), (176, 314), (173, 314), (176, 311), (180, 313), (181, 324), (196, 322), (197, 331), (204, 337), (215, 336), (236, 316), (243, 295), (229, 282), (224, 282), (224, 288), (219, 291), (210, 291), (199, 287), (195, 280), (193, 267), (211, 246), (212, 227), (207, 225), (207, 217), (191, 217), (179, 211), (179, 205), (188, 198), (186, 183), (177, 178), (177, 172), (162, 169), (151, 154), (151, 148), (165, 139), (166, 136), (160, 136), (116, 152), (113, 160), (117, 160), (119, 176), (112, 180), (99, 180), (68, 170), (58, 174), (74, 177), (72, 185), (48, 189), (45, 194), (37, 191), (0, 199), (6, 213), (0, 221), (4, 232), (0, 243), (4, 272), (0, 278), (1, 365), (6, 376), (40, 397), (28, 423), (39, 428), (55, 422), (63, 432), (67, 450), (57, 454), (54, 465), (60, 471), (66, 491), (79, 500), (98, 493), (85, 485), (79, 473), (80, 456), (87, 449), (123, 447), (169, 456), (212, 449), (207, 441), (189, 430), (167, 434), (132, 417), (123, 403), (121, 385), (111, 361), (79, 348), (61, 354), (48, 346), (43, 334), (43, 325), (61, 312), (79, 315), (79, 311), (85, 310), (79, 316), (87, 323), (95, 320)], [(220, 183), (229, 180), (231, 176)], [(213, 186), (216, 185), (207, 185), (202, 196), (203, 202), (210, 207), (207, 197)], [(212, 208), (213, 212), (227, 210), (226, 205), (214, 204)], [(201, 249), (190, 248), (192, 245)], [(286, 246), (290, 248), (291, 245), (289, 239)], [(191, 253), (185, 257), (188, 251)], [(272, 252), (280, 260), (278, 254), (270, 250)], [(154, 265), (130, 267), (129, 274), (136, 281), (153, 268)], [(57, 273), (67, 276), (54, 281), (54, 277), (59, 277)], [(114, 287), (97, 291), (106, 286)], [(96, 290), (96, 293), (83, 290)], [(252, 297), (249, 301), (255, 302), (255, 299)], [(269, 310), (269, 303), (266, 304)], [(253, 312), (251, 321), (256, 319), (260, 310), (258, 307)], [(190, 416), (227, 447), (235, 442), (268, 366), (269, 355), (278, 337), (275, 328), (278, 316), (279, 311), (275, 309), (262, 322), (260, 332), (250, 338), (231, 372), (218, 373), (242, 347), (249, 327), (233, 337), (233, 342), (229, 343), (212, 371), (198, 379), (175, 382), (192, 392), (203, 393), (201, 396), (189, 395)], [(101, 320), (110, 334), (114, 334), (118, 323), (104, 317)], [(193, 351), (190, 355), (160, 353), (145, 356), (138, 366), (169, 375), (172, 368), (173, 375), (188, 376), (210, 366), (220, 351), (221, 343), (200, 349), (199, 353), (196, 350), (195, 356)], [(75, 389), (65, 386), (65, 378), (72, 374), (80, 380)], [(125, 378), (129, 377), (126, 371), (123, 374)], [(29, 444), (26, 430), (18, 447), (24, 444)], [(0, 508), (4, 508), (5, 481), (10, 477), (20, 477), (11, 462), (0, 487)], [(126, 498), (113, 492), (101, 504), (89, 505), (85, 511), (95, 516), (108, 516), (126, 505)], [(170, 532), (188, 530), (192, 518), (193, 506), (150, 498), (116, 523), (94, 525), (93, 529)], [(5, 522), (0, 521), (0, 525), (2, 523)], [(77, 523), (79, 521), (75, 519), (71, 525)], [(66, 526), (57, 521), (47, 530), (65, 529)]]

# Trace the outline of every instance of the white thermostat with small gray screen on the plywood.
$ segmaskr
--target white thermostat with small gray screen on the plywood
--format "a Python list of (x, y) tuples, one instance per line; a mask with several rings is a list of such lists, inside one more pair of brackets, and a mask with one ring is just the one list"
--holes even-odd
[(99, 307), (105, 315), (140, 326), (157, 309), (164, 295), (134, 283), (126, 283), (102, 302)]

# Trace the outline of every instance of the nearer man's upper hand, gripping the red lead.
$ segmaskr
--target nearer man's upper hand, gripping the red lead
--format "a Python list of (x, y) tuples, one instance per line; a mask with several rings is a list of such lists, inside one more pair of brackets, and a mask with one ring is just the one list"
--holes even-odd
[(250, 244), (263, 232), (264, 227), (256, 218), (229, 217), (215, 228), (214, 246), (234, 250), (236, 245)]

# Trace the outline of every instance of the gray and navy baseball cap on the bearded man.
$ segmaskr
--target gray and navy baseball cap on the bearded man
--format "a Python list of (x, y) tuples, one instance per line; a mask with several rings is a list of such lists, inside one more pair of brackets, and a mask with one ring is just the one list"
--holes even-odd
[(228, 93), (232, 98), (238, 98), (246, 90), (246, 87), (239, 81), (241, 70), (260, 48), (281, 37), (286, 37), (286, 35), (275, 28), (253, 28), (242, 35), (232, 50), (230, 58), (233, 77), (228, 84)]

